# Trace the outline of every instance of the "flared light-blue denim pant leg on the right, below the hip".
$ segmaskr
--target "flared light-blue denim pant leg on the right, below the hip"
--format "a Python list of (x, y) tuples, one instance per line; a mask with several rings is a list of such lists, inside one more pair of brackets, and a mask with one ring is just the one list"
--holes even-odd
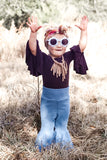
[(69, 131), (67, 129), (68, 118), (70, 113), (69, 98), (58, 102), (58, 116), (56, 119), (55, 132), (56, 143), (61, 143), (63, 146), (69, 145), (73, 147)]

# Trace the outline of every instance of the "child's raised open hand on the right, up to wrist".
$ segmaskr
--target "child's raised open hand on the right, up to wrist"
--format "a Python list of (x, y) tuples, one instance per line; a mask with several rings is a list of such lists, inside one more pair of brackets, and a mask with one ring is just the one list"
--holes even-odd
[(78, 27), (81, 31), (87, 30), (88, 18), (86, 16), (82, 17), (80, 26), (78, 26), (78, 25), (75, 25), (75, 26)]

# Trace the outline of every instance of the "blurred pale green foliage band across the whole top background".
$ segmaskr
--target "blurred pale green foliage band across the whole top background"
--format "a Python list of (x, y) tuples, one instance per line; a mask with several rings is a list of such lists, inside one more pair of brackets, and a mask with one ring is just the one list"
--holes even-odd
[(68, 9), (72, 11), (72, 7), (77, 9), (75, 17), (87, 15), (93, 21), (107, 18), (105, 0), (1, 0), (0, 20), (4, 20), (8, 29), (12, 20), (17, 28), (22, 24), (26, 26), (27, 18), (32, 14), (38, 17), (39, 23), (60, 22)]

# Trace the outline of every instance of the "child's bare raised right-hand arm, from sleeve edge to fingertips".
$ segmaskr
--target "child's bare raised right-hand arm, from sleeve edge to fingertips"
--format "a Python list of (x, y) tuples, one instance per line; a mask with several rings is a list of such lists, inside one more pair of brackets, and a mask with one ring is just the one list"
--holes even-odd
[(82, 17), (80, 26), (78, 25), (75, 25), (75, 26), (81, 30), (79, 46), (80, 46), (81, 52), (83, 52), (87, 45), (87, 26), (88, 26), (87, 17), (86, 16)]

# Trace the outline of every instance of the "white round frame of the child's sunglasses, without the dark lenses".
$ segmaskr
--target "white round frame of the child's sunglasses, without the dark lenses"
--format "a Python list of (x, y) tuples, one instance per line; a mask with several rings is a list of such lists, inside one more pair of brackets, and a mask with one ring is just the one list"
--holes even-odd
[[(54, 45), (51, 44), (50, 41), (51, 41), (52, 39), (55, 39), (55, 40), (56, 40), (56, 44), (54, 44)], [(64, 39), (67, 39), (67, 40), (68, 40), (68, 43), (67, 43), (66, 45), (62, 44), (62, 41), (63, 41)], [(48, 42), (48, 44), (49, 44), (50, 46), (52, 46), (52, 47), (57, 46), (57, 45), (58, 45), (58, 42), (60, 42), (60, 44), (61, 44), (63, 47), (67, 47), (68, 44), (69, 44), (69, 39), (66, 38), (66, 37), (64, 37), (64, 38), (62, 38), (62, 39), (57, 39), (56, 37), (52, 37), (52, 38), (49, 38), (49, 39), (47, 40), (47, 42)]]

